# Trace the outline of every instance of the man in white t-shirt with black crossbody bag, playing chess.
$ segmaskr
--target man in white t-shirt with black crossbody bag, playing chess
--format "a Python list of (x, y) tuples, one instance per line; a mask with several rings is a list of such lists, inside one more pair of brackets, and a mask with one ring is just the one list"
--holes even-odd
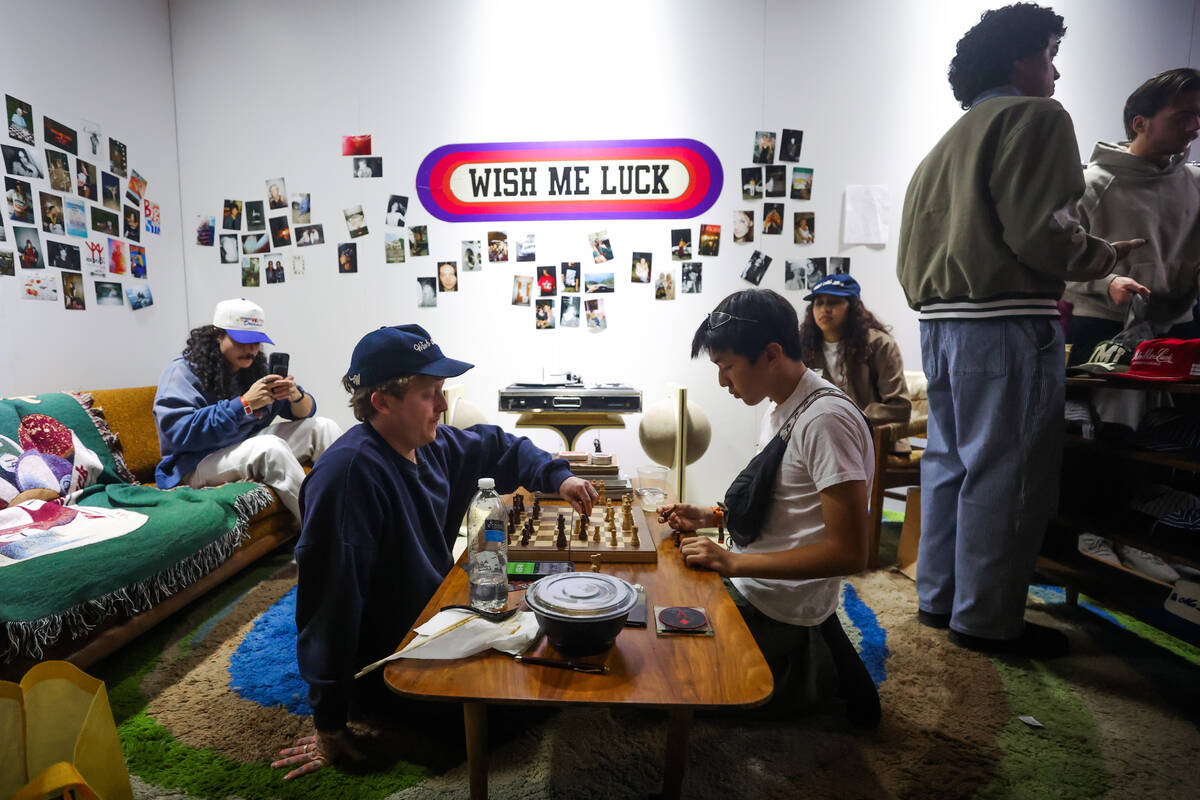
[[(757, 537), (728, 551), (706, 536), (688, 537), (682, 558), (728, 578), (775, 681), (770, 716), (798, 711), (838, 690), (851, 720), (874, 727), (880, 720), (875, 682), (835, 613), (841, 578), (866, 567), (871, 432), (853, 401), (804, 366), (796, 309), (774, 291), (750, 289), (722, 300), (692, 338), (692, 357), (701, 353), (708, 353), (718, 383), (733, 397), (746, 405), (770, 402), (760, 450), (805, 408), (787, 440)], [(684, 504), (660, 510), (662, 522), (684, 531), (712, 527), (713, 517)]]

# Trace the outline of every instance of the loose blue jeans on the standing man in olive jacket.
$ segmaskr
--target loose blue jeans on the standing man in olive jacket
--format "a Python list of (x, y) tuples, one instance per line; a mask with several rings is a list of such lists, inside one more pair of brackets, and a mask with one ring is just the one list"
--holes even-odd
[(1055, 507), (1063, 337), (1055, 319), (920, 323), (929, 379), (917, 597), (960, 633), (1013, 639)]

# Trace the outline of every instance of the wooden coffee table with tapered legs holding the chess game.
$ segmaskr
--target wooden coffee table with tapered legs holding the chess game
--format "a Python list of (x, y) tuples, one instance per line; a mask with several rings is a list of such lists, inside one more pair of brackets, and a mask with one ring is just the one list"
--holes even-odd
[[(654, 515), (647, 515), (653, 518)], [(653, 519), (648, 535), (659, 539), (656, 564), (601, 565), (601, 571), (646, 587), (647, 627), (626, 627), (607, 654), (581, 658), (604, 662), (610, 672), (592, 675), (522, 664), (494, 650), (456, 661), (400, 658), (384, 669), (388, 686), (413, 699), (463, 704), (470, 796), (487, 796), (487, 704), (637, 705), (667, 711), (665, 798), (678, 798), (696, 709), (737, 709), (764, 703), (770, 670), (742, 614), (714, 572), (689, 570), (665, 525)], [(577, 569), (587, 569), (578, 565)], [(510, 594), (509, 606), (522, 595)], [(468, 602), (467, 572), (455, 566), (414, 627), (443, 606)], [(702, 606), (713, 636), (659, 636), (655, 606)], [(413, 632), (401, 643), (408, 644)], [(562, 657), (545, 639), (529, 655)]]

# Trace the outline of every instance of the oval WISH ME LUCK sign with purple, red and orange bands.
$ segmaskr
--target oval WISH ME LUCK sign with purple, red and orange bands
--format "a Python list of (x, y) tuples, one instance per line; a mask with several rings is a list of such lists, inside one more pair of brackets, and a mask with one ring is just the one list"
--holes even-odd
[(416, 194), (445, 222), (680, 219), (721, 193), (721, 162), (695, 139), (448, 144)]

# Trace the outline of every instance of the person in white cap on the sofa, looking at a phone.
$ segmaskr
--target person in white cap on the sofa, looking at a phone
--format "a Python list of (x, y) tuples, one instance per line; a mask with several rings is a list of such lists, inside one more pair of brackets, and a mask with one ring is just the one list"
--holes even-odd
[(235, 297), (217, 303), (211, 325), (191, 330), (155, 393), (162, 451), (155, 482), (169, 489), (258, 481), (299, 519), (300, 464), (316, 461), (342, 429), (314, 416), (317, 402), (288, 374), (286, 354), (272, 353), (269, 371), (262, 347), (275, 342), (265, 324), (260, 306)]

